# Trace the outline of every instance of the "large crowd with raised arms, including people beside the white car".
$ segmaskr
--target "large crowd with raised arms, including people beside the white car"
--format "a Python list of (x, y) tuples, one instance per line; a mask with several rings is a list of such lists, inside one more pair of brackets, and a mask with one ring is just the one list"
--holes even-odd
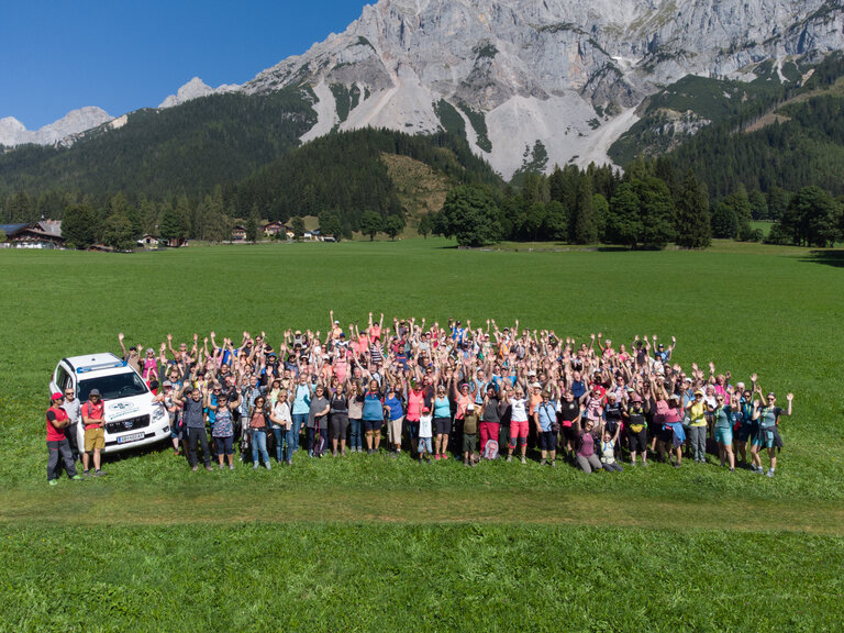
[[(734, 382), (712, 363), (709, 371), (696, 364), (684, 370), (671, 362), (674, 337), (666, 345), (635, 336), (615, 347), (601, 333), (577, 342), (520, 330), (518, 320), (499, 327), (491, 319), (443, 326), (397, 318), (385, 326), (384, 314), (371, 313), (363, 327), (344, 329), (333, 311), (326, 325), (324, 333), (288, 330), (275, 347), (264, 332), (243, 332), (238, 342), (195, 334), (176, 348), (168, 335), (157, 351), (126, 349), (122, 333), (119, 341), (169, 413), (174, 454), (186, 455), (193, 470), (200, 460), (209, 470), (234, 469), (235, 462), (292, 465), (301, 448), (310, 458), (453, 457), (467, 467), (529, 457), (554, 467), (560, 457), (585, 473), (615, 473), (648, 458), (676, 468), (684, 459), (706, 463), (709, 448), (713, 464), (773, 477), (779, 420), (791, 414), (793, 396), (779, 408), (755, 374)], [(102, 402), (91, 396), (96, 401), (82, 407), (73, 393), (52, 397), (51, 482), (59, 458), (70, 477), (87, 476), (89, 453), (95, 475), (102, 474), (95, 451), (101, 438), (89, 442), (86, 431), (79, 451), (63, 434), (84, 411), (99, 411)]]

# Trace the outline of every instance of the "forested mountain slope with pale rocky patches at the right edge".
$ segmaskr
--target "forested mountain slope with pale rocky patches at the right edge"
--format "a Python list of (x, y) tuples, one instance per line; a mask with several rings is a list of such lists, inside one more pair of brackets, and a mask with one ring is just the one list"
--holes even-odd
[[(844, 193), (844, 55), (813, 67), (770, 63), (749, 82), (687, 77), (648, 100), (644, 116), (613, 145), (628, 164), (668, 153), (719, 200), (740, 187), (763, 192), (818, 186)], [(693, 134), (692, 134), (693, 132)]]

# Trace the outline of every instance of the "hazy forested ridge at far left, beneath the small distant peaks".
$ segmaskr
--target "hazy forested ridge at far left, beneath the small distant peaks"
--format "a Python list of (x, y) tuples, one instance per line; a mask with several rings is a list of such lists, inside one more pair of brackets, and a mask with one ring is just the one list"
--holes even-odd
[(122, 127), (88, 132), (71, 147), (25, 146), (0, 154), (0, 196), (23, 190), (99, 199), (199, 197), (290, 152), (314, 123), (299, 89), (215, 95), (166, 110), (138, 110)]

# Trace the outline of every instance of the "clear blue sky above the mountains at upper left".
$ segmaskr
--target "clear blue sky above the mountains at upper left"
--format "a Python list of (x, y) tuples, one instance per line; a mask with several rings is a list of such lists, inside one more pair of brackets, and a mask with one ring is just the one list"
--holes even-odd
[(37, 130), (84, 106), (112, 116), (158, 106), (195, 76), (243, 84), (345, 31), (366, 3), (11, 0), (0, 21), (0, 119)]

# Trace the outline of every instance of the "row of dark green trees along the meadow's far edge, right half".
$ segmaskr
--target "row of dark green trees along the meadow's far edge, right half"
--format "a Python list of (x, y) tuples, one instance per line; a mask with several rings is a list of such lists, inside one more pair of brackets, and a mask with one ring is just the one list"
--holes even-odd
[[(767, 237), (752, 224), (764, 219), (776, 220)], [(763, 195), (740, 185), (713, 204), (692, 170), (680, 179), (669, 158), (640, 158), (623, 176), (609, 167), (568, 165), (547, 177), (526, 176), (521, 191), (457, 187), (420, 225), (420, 234), (427, 231), (462, 246), (510, 240), (704, 248), (713, 237), (832, 246), (844, 240), (844, 199), (814, 186)]]

